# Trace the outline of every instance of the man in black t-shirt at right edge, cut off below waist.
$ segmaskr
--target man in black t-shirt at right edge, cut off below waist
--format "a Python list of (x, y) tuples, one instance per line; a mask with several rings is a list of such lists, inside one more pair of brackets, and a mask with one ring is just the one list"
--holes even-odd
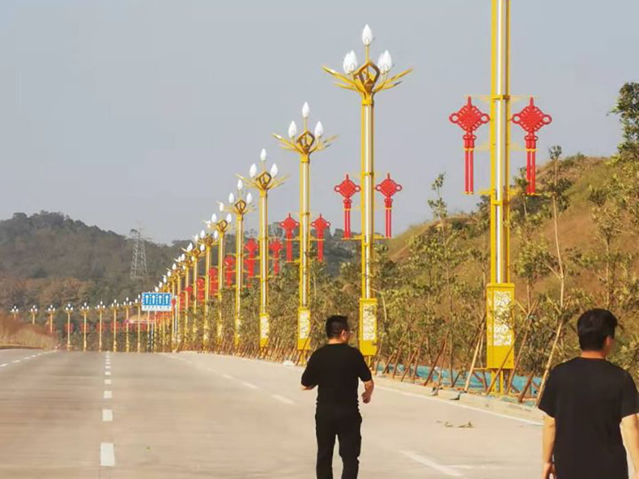
[[(539, 408), (543, 423), (543, 479), (627, 479), (626, 446), (639, 470), (639, 397), (634, 381), (605, 359), (617, 318), (591, 309), (577, 321), (581, 356), (555, 367)], [(553, 463), (554, 456), (554, 463)], [(635, 479), (639, 473), (635, 472)]]

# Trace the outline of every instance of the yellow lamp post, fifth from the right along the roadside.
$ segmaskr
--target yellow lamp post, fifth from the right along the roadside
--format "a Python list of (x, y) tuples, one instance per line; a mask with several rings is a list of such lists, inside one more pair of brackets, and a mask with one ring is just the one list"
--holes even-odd
[(244, 182), (239, 179), (237, 197), (229, 194), (229, 211), (235, 214), (235, 321), (234, 345), (240, 344), (240, 328), (242, 326), (242, 287), (244, 283), (244, 217), (251, 211), (253, 195), (249, 192), (244, 196)]

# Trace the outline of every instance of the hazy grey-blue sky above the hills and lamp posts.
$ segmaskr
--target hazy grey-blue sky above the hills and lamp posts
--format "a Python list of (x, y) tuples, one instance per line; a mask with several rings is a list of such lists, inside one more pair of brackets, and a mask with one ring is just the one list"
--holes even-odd
[[(637, 0), (513, 1), (513, 94), (537, 95), (554, 119), (542, 159), (557, 143), (566, 154), (615, 151), (620, 128), (607, 112), (623, 82), (639, 80), (637, 18)], [(440, 172), (451, 209), (473, 207), (448, 116), (464, 95), (489, 93), (489, 0), (1, 0), (0, 218), (62, 211), (124, 234), (142, 224), (170, 242), (199, 231), (267, 148), (291, 176), (271, 195), (270, 219), (283, 219), (298, 209), (298, 159), (271, 132), (299, 124), (307, 101), (313, 124), (339, 135), (313, 159), (311, 206), (341, 227), (333, 186), (359, 172), (360, 102), (321, 66), (341, 70), (350, 49), (361, 58), (366, 23), (374, 58), (389, 49), (396, 71), (414, 68), (376, 102), (377, 173), (404, 187), (395, 231), (429, 217)], [(489, 185), (488, 161), (477, 154), (475, 189)], [(515, 152), (513, 169), (524, 164)]]

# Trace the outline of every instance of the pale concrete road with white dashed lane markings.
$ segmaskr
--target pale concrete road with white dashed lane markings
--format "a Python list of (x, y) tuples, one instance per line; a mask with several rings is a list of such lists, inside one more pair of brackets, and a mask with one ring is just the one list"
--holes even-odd
[[(316, 393), (300, 374), (196, 353), (0, 351), (0, 477), (313, 478)], [(378, 384), (361, 478), (539, 476), (534, 421)], [(337, 451), (334, 464), (339, 477)]]

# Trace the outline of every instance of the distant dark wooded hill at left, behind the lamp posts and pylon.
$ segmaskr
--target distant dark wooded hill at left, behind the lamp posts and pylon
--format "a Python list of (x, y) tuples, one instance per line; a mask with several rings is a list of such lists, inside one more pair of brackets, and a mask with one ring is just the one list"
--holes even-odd
[[(271, 234), (281, 233), (277, 226), (271, 228)], [(339, 230), (326, 235), (325, 255), (333, 274), (352, 255), (352, 248), (340, 240)], [(234, 235), (227, 241), (233, 245)], [(170, 246), (147, 241), (146, 281), (130, 278), (133, 243), (128, 237), (88, 226), (63, 213), (14, 213), (9, 220), (0, 221), (0, 309), (8, 311), (16, 305), (25, 311), (34, 304), (59, 307), (87, 301), (95, 305), (133, 298), (155, 287), (188, 240), (174, 241)]]

